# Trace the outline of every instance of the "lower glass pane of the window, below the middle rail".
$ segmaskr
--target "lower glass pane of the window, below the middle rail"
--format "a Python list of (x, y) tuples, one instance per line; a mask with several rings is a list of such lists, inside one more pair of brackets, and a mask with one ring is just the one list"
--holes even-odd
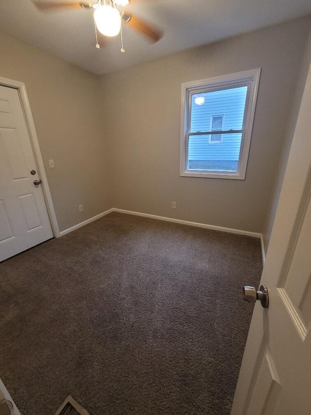
[(221, 143), (209, 143), (207, 134), (189, 136), (189, 170), (238, 170), (242, 133), (215, 135), (223, 136)]

